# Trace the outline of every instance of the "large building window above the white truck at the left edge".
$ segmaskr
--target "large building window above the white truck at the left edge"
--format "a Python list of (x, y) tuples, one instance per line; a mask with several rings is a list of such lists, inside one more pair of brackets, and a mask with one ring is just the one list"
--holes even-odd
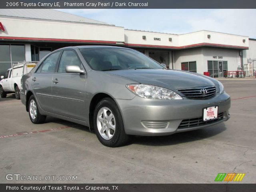
[(12, 64), (25, 60), (25, 46), (23, 44), (0, 44), (0, 75), (6, 73)]

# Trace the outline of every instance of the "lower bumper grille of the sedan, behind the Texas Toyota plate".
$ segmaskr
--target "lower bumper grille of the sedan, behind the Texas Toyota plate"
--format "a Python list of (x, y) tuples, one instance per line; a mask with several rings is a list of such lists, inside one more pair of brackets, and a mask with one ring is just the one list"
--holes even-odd
[(224, 118), (224, 113), (218, 113), (218, 118), (213, 120), (204, 121), (202, 117), (193, 118), (193, 119), (184, 119), (178, 126), (178, 129), (185, 129), (185, 128), (193, 128), (197, 126), (202, 126), (206, 124), (212, 124)]

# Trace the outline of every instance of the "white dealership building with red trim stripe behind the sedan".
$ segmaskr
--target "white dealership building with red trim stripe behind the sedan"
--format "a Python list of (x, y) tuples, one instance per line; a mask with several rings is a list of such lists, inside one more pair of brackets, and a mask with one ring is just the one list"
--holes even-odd
[(248, 36), (198, 31), (166, 34), (129, 30), (50, 9), (0, 10), (0, 74), (20, 61), (38, 61), (65, 46), (133, 48), (169, 68), (212, 77), (240, 67), (255, 76), (256, 40)]

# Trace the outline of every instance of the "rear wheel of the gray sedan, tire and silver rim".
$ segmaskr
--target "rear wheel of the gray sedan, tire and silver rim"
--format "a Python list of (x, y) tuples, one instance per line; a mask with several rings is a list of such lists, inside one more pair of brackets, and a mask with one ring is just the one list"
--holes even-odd
[(46, 119), (45, 115), (40, 114), (34, 95), (30, 96), (28, 100), (28, 114), (31, 122), (34, 124), (42, 124)]

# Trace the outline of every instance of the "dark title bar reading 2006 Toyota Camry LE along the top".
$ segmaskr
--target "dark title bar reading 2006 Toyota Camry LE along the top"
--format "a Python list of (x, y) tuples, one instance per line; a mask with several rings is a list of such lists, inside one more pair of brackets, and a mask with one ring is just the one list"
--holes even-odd
[(256, 0), (1, 0), (1, 9), (256, 8)]

